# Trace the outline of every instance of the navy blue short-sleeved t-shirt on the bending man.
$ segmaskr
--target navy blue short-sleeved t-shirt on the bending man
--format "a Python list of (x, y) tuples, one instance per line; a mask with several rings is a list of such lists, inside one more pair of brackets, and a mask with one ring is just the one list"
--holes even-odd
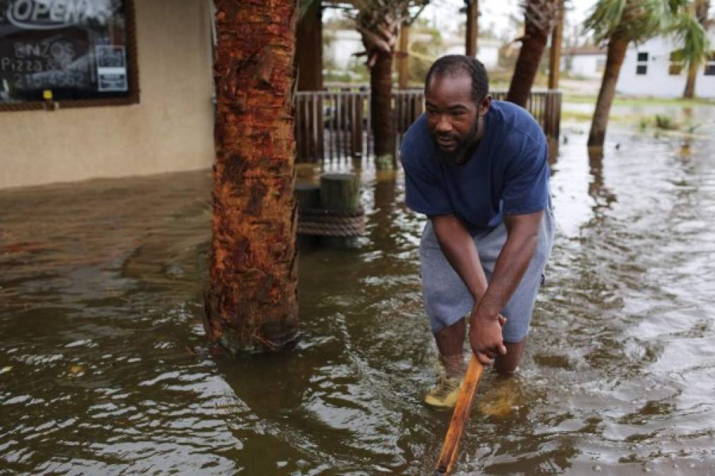
[(454, 214), (469, 229), (496, 227), (504, 214), (534, 213), (549, 203), (546, 137), (526, 109), (510, 102), (491, 102), (483, 137), (465, 164), (439, 158), (425, 114), (405, 133), (400, 157), (408, 207)]

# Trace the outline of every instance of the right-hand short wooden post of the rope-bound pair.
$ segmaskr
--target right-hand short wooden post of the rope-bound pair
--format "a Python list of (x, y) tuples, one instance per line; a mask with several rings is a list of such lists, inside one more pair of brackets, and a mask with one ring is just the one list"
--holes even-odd
[[(320, 176), (320, 207), (335, 212), (355, 212), (360, 209), (360, 177), (355, 174), (322, 174)], [(320, 237), (327, 247), (355, 248), (358, 237)]]

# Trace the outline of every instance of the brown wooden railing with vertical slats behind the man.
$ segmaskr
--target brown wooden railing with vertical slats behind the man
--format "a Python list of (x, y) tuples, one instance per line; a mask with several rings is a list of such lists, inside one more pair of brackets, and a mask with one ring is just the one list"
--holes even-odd
[[(493, 99), (506, 99), (506, 91), (492, 91)], [(424, 91), (393, 91), (395, 148), (402, 134), (424, 111)], [(547, 137), (558, 138), (561, 123), (561, 91), (533, 91), (526, 109), (541, 124)], [(370, 91), (342, 88), (298, 91), (295, 97), (295, 137), (298, 162), (322, 162), (364, 157), (373, 145), (370, 124)]]

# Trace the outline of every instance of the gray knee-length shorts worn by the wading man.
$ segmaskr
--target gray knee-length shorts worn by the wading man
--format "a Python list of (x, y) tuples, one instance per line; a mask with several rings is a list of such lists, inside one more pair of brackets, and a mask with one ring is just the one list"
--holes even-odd
[[(504, 224), (473, 235), (488, 280), (506, 237)], [(543, 269), (552, 247), (553, 212), (548, 208), (541, 219), (536, 252), (518, 288), (501, 312), (507, 318), (503, 328), (505, 342), (521, 342), (528, 334), (536, 293), (543, 281)], [(425, 224), (420, 241), (420, 265), (425, 311), (430, 317), (432, 332), (436, 334), (468, 315), (474, 306), (474, 299), (442, 253), (430, 220)]]

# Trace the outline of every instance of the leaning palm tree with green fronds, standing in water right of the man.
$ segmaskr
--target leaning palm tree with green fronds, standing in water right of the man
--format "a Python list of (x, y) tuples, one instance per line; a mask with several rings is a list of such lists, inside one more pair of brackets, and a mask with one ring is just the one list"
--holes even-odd
[(589, 146), (603, 146), (613, 96), (626, 49), (631, 41), (647, 39), (670, 31), (686, 0), (598, 0), (584, 21), (596, 41), (608, 42), (606, 69), (593, 111)]

